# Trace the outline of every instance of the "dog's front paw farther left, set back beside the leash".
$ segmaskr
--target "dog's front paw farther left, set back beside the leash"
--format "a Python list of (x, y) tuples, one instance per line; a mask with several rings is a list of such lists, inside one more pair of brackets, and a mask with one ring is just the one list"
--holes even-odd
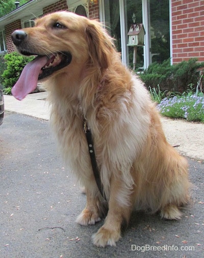
[(82, 213), (77, 217), (77, 223), (83, 226), (94, 225), (95, 222), (100, 221), (100, 217), (97, 213), (84, 209)]

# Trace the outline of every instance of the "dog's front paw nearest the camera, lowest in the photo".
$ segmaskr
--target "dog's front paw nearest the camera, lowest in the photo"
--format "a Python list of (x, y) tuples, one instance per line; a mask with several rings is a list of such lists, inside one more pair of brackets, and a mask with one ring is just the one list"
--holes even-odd
[(94, 245), (98, 247), (105, 247), (107, 245), (116, 246), (116, 242), (120, 238), (120, 232), (111, 231), (104, 226), (100, 227), (98, 232), (92, 236)]

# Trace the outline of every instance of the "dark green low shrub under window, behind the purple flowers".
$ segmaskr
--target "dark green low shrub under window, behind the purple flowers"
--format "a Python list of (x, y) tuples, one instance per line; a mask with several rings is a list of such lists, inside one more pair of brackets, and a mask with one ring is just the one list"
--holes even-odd
[(159, 84), (163, 92), (184, 92), (189, 88), (189, 85), (196, 87), (199, 68), (203, 67), (204, 63), (197, 63), (196, 59), (190, 59), (188, 62), (184, 61), (172, 66), (170, 65), (170, 59), (168, 59), (162, 64), (151, 64), (143, 74), (140, 74), (140, 77), (147, 88), (156, 88)]

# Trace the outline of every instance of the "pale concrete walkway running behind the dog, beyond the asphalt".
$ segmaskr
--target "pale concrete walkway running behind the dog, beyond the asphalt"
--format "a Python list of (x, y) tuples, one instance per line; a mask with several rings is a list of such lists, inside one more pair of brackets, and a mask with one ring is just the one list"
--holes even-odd
[[(5, 95), (5, 110), (49, 120), (46, 92), (29, 94), (22, 101)], [(204, 161), (204, 124), (162, 118), (163, 129), (169, 143), (181, 154)]]

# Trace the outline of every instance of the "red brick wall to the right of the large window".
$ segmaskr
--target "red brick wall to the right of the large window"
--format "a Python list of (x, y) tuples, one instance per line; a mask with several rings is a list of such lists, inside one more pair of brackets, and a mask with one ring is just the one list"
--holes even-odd
[(204, 62), (204, 0), (171, 0), (173, 64)]

